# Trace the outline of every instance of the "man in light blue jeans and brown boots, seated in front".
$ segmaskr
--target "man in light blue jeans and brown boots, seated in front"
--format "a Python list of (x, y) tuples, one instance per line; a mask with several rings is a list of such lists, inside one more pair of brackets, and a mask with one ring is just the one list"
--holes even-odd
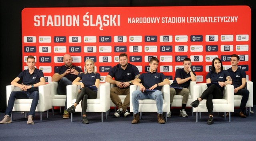
[[(156, 57), (150, 58), (149, 66), (150, 70), (147, 73), (142, 73), (137, 79), (134, 80), (134, 85), (140, 86), (140, 90), (135, 90), (132, 92), (132, 106), (134, 119), (132, 124), (137, 124), (139, 119), (138, 109), (139, 100), (142, 99), (154, 99), (156, 100), (157, 107), (157, 121), (160, 124), (165, 123), (162, 113), (163, 113), (163, 94), (161, 92), (162, 86), (165, 84), (170, 84), (170, 81), (166, 78), (163, 73), (156, 72), (159, 60)], [(141, 82), (141, 83), (140, 83)], [(147, 91), (156, 90), (156, 91)]]

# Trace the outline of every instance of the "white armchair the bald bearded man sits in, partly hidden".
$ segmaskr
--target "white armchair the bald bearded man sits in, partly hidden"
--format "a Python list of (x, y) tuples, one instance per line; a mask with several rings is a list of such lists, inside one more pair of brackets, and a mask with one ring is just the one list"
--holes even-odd
[(54, 106), (65, 107), (66, 95), (58, 95), (58, 82), (52, 81), (51, 84), (51, 93), (52, 93), (52, 115), (54, 115)]

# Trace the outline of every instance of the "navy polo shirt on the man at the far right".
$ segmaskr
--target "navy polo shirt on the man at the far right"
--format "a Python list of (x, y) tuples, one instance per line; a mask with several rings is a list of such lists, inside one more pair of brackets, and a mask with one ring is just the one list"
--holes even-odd
[(246, 78), (246, 73), (244, 70), (237, 68), (237, 70), (234, 72), (232, 71), (232, 68), (229, 68), (227, 70), (230, 74), (230, 77), (232, 78), (232, 85), (234, 85), (234, 88), (239, 87), (242, 85), (242, 78)]

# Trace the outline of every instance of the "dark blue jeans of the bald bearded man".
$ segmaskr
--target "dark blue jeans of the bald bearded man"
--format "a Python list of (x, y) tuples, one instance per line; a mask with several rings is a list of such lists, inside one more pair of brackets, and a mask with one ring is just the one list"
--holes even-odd
[[(59, 95), (67, 95), (67, 85), (72, 85), (72, 81), (70, 81), (67, 77), (62, 77), (58, 83)], [(66, 97), (64, 109), (67, 109), (67, 97)]]

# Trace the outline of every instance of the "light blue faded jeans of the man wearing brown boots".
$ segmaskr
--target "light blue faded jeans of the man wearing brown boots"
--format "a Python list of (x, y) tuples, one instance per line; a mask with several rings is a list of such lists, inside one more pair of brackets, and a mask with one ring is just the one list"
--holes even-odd
[(139, 109), (139, 100), (142, 99), (154, 99), (156, 100), (156, 108), (157, 113), (162, 114), (163, 113), (163, 95), (162, 92), (157, 91), (140, 91), (135, 90), (132, 92), (132, 106), (133, 106), (133, 113), (137, 114)]

